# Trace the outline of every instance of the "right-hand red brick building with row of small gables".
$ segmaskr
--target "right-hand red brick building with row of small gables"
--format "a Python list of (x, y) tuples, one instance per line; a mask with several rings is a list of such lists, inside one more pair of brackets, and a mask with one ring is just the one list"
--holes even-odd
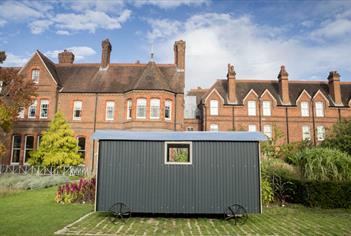
[(238, 80), (228, 65), (226, 80), (187, 95), (187, 130), (262, 131), (272, 137), (278, 129), (282, 142), (317, 143), (335, 122), (351, 119), (351, 82), (340, 82), (336, 71), (325, 81), (292, 81), (282, 66), (278, 80)]

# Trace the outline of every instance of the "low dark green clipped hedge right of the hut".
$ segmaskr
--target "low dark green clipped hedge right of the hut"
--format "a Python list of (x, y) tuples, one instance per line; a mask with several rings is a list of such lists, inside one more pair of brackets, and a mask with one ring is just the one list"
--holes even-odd
[(308, 207), (351, 208), (351, 182), (300, 181), (284, 179), (291, 184), (285, 200)]

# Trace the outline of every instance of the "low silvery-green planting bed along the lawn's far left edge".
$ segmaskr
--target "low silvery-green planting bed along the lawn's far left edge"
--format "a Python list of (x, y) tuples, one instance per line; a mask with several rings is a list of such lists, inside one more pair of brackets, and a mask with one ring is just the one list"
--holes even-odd
[(40, 189), (68, 182), (67, 176), (6, 174), (0, 178), (0, 189)]

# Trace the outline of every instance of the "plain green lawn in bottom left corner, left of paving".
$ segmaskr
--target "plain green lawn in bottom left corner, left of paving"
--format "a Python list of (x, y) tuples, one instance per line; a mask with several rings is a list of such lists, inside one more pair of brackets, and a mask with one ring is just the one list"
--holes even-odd
[(91, 204), (57, 204), (57, 187), (0, 196), (0, 235), (52, 235), (89, 211)]

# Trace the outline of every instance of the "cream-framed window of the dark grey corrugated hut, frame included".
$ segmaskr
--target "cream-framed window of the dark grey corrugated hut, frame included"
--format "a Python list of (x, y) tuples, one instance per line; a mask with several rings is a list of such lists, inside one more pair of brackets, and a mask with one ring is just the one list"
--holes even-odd
[(191, 142), (166, 142), (166, 164), (191, 164)]

